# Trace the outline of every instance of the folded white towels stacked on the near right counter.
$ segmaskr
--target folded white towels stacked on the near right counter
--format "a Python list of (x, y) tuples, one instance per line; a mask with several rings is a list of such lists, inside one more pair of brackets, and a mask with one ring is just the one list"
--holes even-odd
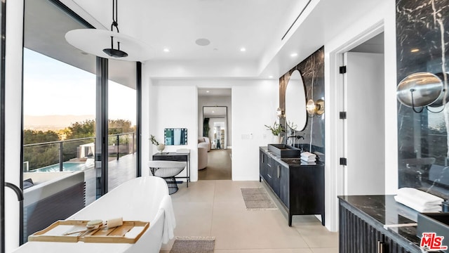
[(415, 188), (401, 188), (394, 200), (418, 212), (440, 212), (443, 199)]

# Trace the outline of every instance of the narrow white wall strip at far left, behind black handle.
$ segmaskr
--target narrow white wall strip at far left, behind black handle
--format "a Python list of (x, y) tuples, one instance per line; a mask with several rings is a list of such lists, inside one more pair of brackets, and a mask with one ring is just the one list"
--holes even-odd
[[(5, 181), (20, 186), (20, 136), (22, 121), (22, 25), (23, 1), (8, 1), (6, 8), (5, 63)], [(17, 196), (5, 188), (6, 252), (19, 246), (20, 206)]]

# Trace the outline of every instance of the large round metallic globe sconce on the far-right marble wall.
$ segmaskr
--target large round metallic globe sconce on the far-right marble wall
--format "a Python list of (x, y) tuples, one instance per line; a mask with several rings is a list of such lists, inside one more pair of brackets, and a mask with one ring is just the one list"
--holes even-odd
[[(445, 105), (448, 102), (449, 94), (436, 74), (417, 72), (408, 75), (399, 82), (396, 87), (396, 96), (401, 104), (412, 108), (413, 112), (420, 113), (424, 108), (429, 110), (429, 106), (439, 107)], [(421, 110), (417, 110), (416, 108), (418, 107)], [(434, 111), (429, 110), (429, 112)]]

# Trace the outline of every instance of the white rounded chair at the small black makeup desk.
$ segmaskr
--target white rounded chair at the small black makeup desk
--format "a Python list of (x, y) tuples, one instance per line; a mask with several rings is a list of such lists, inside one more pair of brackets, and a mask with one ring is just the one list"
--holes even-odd
[(180, 174), (181, 171), (186, 167), (185, 162), (175, 162), (175, 161), (149, 161), (149, 170), (153, 176), (159, 176), (166, 180), (168, 186), (168, 193), (176, 193), (177, 183), (175, 176)]

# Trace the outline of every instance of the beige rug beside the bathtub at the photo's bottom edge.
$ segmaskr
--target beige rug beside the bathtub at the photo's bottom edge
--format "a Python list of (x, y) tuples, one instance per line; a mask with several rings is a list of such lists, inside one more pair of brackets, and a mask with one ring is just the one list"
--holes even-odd
[(170, 253), (213, 253), (214, 237), (177, 237)]

